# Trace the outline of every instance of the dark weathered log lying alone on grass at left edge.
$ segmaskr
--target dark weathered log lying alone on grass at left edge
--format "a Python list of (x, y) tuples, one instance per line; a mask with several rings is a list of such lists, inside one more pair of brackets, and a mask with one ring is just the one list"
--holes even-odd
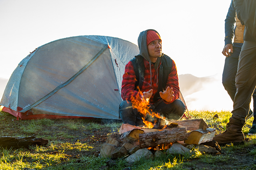
[(3, 148), (20, 148), (28, 147), (30, 145), (47, 145), (48, 140), (43, 138), (36, 138), (34, 136), (29, 137), (11, 137), (11, 136), (1, 136), (0, 137), (0, 147)]

